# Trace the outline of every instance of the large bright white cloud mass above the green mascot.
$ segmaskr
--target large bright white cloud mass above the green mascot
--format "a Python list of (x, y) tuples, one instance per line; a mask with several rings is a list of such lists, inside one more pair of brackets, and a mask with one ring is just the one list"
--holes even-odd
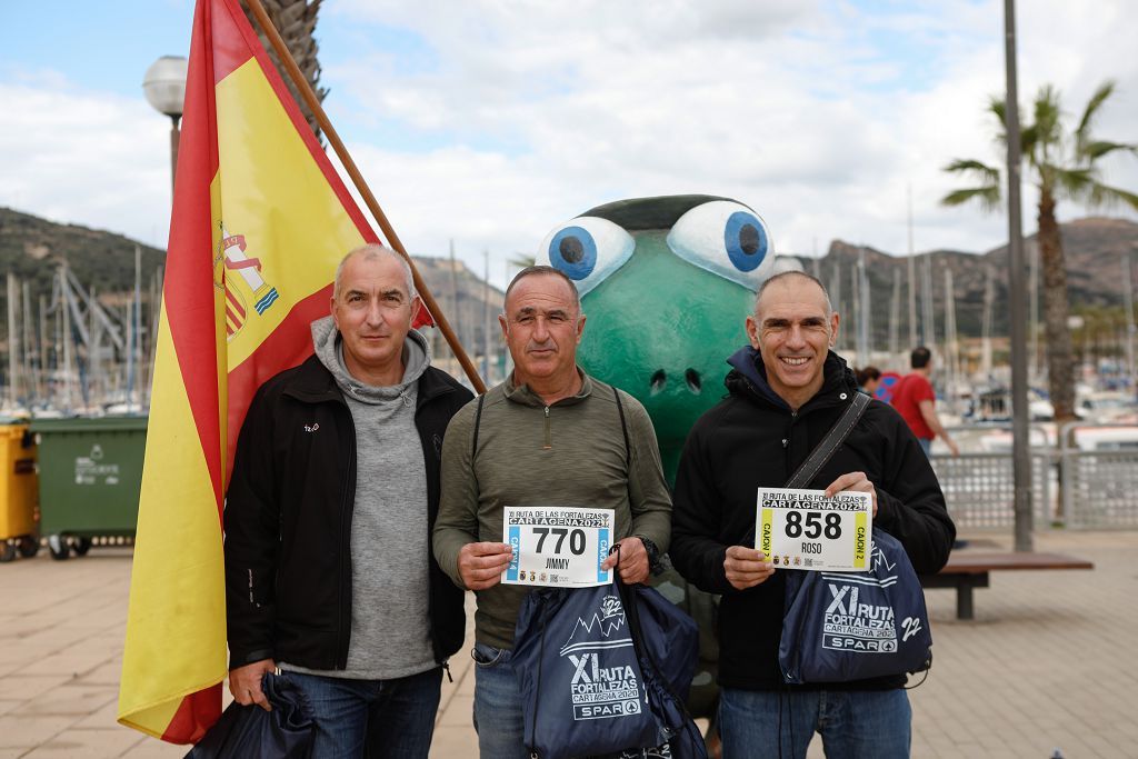
[[(1056, 81), (1081, 102), (1089, 71), (1138, 86), (1133, 65), (1118, 64), (1138, 14), (1115, 3), (1089, 19), (1056, 0), (1020, 5), (1021, 99), (1038, 82)], [(460, 239), (467, 216), (481, 220), (481, 232), (497, 230), (497, 246), (480, 238), (492, 247), (539, 239), (607, 200), (695, 191), (752, 204), (784, 249), (790, 241), (809, 250), (816, 238), (824, 249), (841, 237), (901, 253), (908, 185), (918, 250), (1003, 241), (999, 216), (938, 205), (955, 187), (940, 171), (949, 159), (999, 159), (983, 109), (1004, 86), (1001, 3), (929, 2), (882, 15), (840, 5), (695, 8), (470, 2), (439, 14), (430, 3), (349, 2), (337, 13), (406, 27), (438, 60), (428, 73), (379, 86), (352, 74), (339, 86), (366, 86), (377, 112), (412, 129), (471, 143), (509, 135), (522, 146), (494, 154), (494, 176), (484, 183), (455, 178), (485, 168), (486, 154), (435, 151), (407, 162), (447, 167), (440, 179), (452, 181), (421, 201), (443, 209)], [(917, 48), (918, 72), (883, 41), (893, 36)], [(1116, 100), (1102, 133), (1124, 138), (1110, 129), (1129, 113)], [(421, 176), (396, 176), (393, 167), (393, 188)], [(511, 191), (518, 195), (504, 195)], [(1073, 204), (1061, 211), (1085, 213)]]

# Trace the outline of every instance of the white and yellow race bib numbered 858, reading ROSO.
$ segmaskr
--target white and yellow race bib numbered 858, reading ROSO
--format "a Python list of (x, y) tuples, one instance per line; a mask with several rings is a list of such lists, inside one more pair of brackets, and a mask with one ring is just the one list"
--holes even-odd
[(846, 492), (759, 488), (754, 547), (778, 569), (864, 572), (873, 551), (873, 498)]

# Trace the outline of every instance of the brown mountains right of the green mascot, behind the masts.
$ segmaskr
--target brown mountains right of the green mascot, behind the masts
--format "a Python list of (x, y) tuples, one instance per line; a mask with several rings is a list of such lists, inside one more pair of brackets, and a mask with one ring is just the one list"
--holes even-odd
[[(1067, 290), (1072, 312), (1083, 307), (1120, 307), (1123, 305), (1122, 255), (1138, 250), (1138, 224), (1122, 218), (1090, 217), (1062, 224), (1063, 248), (1067, 262)], [(831, 289), (834, 307), (843, 316), (844, 338), (855, 340), (853, 282), (859, 251), (863, 248), (842, 240), (834, 240), (826, 255), (817, 263), (802, 258), (806, 270), (819, 274)], [(893, 294), (893, 272), (900, 277), (900, 314), (898, 321), (901, 348), (908, 343), (908, 261), (875, 248), (866, 247), (866, 274), (869, 280), (871, 329), (873, 344), (888, 346), (889, 312)], [(1030, 259), (1038, 255), (1037, 236), (1024, 238), (1024, 254)], [(917, 278), (917, 322), (921, 322), (921, 279), (925, 262), (932, 262), (933, 322), (938, 339), (945, 335), (945, 271), (953, 272), (956, 296), (956, 325), (960, 337), (979, 337), (983, 322), (984, 281), (987, 267), (995, 273), (995, 307), (992, 335), (1008, 333), (1008, 277), (1007, 246), (981, 255), (960, 250), (932, 250), (914, 256)], [(1138, 256), (1135, 264), (1138, 265)], [(1026, 277), (1025, 272), (1025, 277)], [(834, 284), (840, 275), (840, 284)], [(1039, 310), (1042, 313), (1042, 291)], [(918, 331), (918, 335), (921, 332)]]

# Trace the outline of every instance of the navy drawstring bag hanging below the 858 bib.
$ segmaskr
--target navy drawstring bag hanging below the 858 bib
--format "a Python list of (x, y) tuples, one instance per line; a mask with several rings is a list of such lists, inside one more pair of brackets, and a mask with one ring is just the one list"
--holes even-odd
[(848, 683), (932, 666), (921, 580), (905, 546), (873, 530), (868, 572), (785, 570), (778, 665), (787, 683)]

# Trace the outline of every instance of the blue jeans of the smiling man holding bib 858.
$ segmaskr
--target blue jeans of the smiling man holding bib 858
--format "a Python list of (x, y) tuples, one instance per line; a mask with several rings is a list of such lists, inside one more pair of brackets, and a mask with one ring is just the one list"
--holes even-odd
[(723, 688), (724, 759), (805, 759), (817, 732), (827, 759), (909, 756), (913, 710), (905, 691), (740, 691)]

